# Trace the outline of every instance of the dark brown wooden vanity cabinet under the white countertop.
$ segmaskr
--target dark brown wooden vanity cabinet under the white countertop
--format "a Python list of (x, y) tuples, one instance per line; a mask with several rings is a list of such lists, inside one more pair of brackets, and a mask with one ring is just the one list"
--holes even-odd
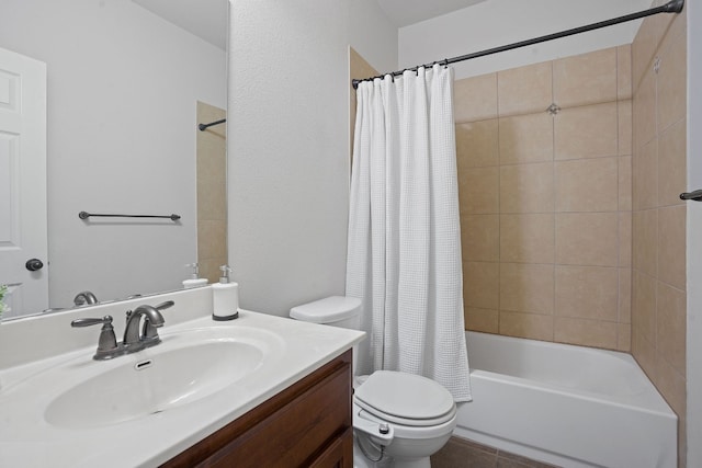
[(161, 465), (353, 467), (351, 351)]

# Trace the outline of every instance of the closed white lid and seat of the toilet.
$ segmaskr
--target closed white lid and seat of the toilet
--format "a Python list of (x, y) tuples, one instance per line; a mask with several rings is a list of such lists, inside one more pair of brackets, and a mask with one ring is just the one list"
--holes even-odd
[(354, 391), (356, 403), (381, 418), (412, 425), (440, 424), (455, 413), (453, 397), (422, 376), (376, 370)]

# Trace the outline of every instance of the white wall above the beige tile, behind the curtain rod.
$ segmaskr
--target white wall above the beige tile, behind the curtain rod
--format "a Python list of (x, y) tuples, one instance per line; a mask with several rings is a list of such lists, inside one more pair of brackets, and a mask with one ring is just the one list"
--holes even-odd
[[(488, 0), (399, 30), (399, 68), (646, 10), (652, 0)], [(455, 64), (456, 79), (630, 44), (641, 21)]]

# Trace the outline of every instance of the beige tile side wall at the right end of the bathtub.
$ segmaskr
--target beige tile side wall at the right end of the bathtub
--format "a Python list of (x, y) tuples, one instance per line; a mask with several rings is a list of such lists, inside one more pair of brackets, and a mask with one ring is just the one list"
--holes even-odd
[[(660, 2), (657, 2), (658, 4)], [(644, 21), (632, 44), (632, 354), (680, 418), (686, 466), (686, 13)]]

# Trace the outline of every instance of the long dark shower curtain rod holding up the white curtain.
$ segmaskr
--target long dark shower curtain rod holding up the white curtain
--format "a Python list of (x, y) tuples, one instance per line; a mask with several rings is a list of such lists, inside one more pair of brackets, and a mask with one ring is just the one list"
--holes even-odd
[(353, 85), (353, 89), (358, 89), (359, 83), (361, 83), (362, 81), (373, 81), (376, 78), (383, 79), (388, 75), (390, 75), (392, 77), (399, 77), (407, 70), (417, 71), (419, 67), (430, 68), (435, 64), (448, 66), (450, 64), (455, 64), (456, 61), (471, 60), (472, 58), (485, 57), (486, 55), (492, 55), (492, 54), (498, 54), (500, 52), (512, 50), (520, 47), (526, 47), (526, 46), (543, 43), (546, 41), (558, 39), (561, 37), (567, 37), (574, 34), (586, 33), (588, 31), (599, 30), (601, 27), (612, 26), (614, 24), (625, 23), (627, 21), (638, 20), (641, 18), (646, 18), (646, 16), (650, 16), (658, 13), (680, 13), (682, 11), (683, 5), (684, 5), (684, 0), (671, 0), (666, 4), (661, 4), (660, 7), (639, 11), (638, 13), (626, 14), (624, 16), (614, 18), (612, 20), (600, 21), (599, 23), (588, 24), (587, 26), (574, 27), (573, 30), (562, 31), (559, 33), (534, 37), (533, 39), (520, 41), (518, 43), (512, 43), (512, 44), (508, 44), (500, 47), (492, 47), (485, 50), (475, 52), (473, 54), (466, 54), (466, 55), (462, 55), (453, 58), (445, 58), (443, 60), (433, 61), (431, 64), (418, 65), (417, 67), (406, 68), (404, 70), (393, 71), (390, 73), (378, 75), (377, 77), (364, 78), (362, 80), (353, 79), (351, 80), (351, 84)]

